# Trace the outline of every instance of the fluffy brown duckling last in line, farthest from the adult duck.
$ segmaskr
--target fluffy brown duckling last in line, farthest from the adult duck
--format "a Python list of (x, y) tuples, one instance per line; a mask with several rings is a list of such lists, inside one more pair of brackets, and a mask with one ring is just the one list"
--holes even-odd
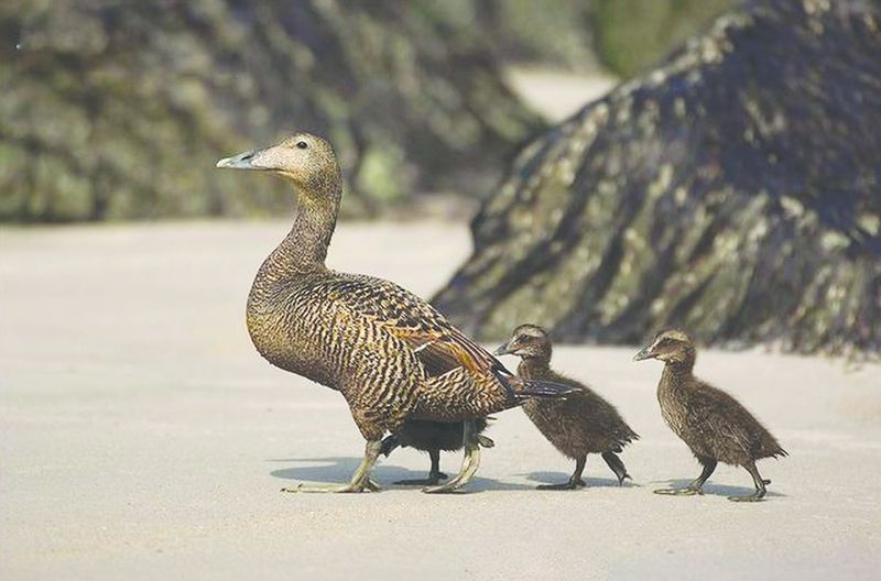
[(755, 468), (762, 458), (788, 456), (777, 440), (746, 407), (727, 393), (697, 379), (692, 373), (697, 359), (694, 342), (682, 330), (657, 333), (652, 344), (637, 353), (634, 361), (659, 359), (664, 372), (657, 384), (661, 415), (701, 464), (700, 475), (684, 489), (659, 489), (657, 494), (700, 494), (704, 483), (718, 462), (743, 467), (752, 476), (755, 492), (747, 496), (729, 496), (730, 501), (761, 501), (764, 480)]

